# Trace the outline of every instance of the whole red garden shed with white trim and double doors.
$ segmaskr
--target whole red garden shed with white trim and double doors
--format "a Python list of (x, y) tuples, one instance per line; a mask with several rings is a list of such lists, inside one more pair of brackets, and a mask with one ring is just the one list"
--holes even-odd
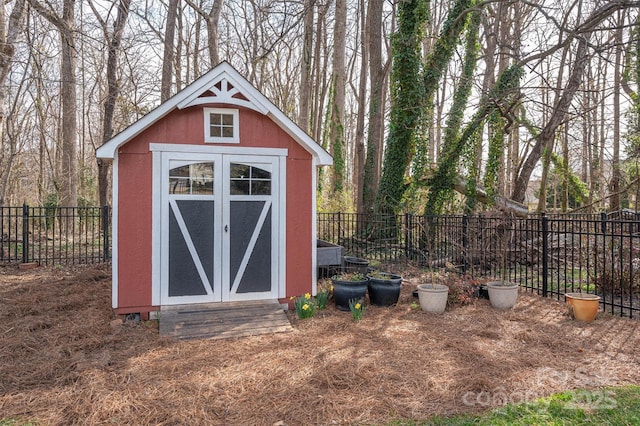
[(97, 150), (113, 159), (113, 307), (286, 301), (316, 288), (331, 156), (223, 62)]

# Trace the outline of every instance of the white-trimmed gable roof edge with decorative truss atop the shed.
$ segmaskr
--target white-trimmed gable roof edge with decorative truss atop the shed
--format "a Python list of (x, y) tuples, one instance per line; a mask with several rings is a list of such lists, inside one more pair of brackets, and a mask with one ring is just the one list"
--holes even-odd
[(174, 109), (224, 103), (249, 108), (267, 115), (316, 159), (319, 166), (333, 163), (331, 156), (269, 99), (249, 83), (228, 62), (215, 68), (160, 104), (96, 150), (98, 158), (114, 158), (118, 148), (151, 127)]

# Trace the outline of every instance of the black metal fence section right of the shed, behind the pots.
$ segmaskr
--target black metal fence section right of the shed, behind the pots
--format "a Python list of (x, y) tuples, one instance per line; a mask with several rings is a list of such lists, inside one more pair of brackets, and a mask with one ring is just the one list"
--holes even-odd
[(371, 216), (320, 213), (318, 237), (383, 264), (504, 277), (560, 300), (596, 293), (607, 312), (640, 312), (638, 215)]

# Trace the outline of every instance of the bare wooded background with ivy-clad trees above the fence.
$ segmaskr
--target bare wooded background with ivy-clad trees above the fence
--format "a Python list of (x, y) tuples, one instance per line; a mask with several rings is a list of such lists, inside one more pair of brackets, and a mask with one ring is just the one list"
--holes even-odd
[(333, 155), (321, 210), (636, 209), (639, 6), (3, 2), (0, 205), (110, 203), (95, 149), (225, 60)]

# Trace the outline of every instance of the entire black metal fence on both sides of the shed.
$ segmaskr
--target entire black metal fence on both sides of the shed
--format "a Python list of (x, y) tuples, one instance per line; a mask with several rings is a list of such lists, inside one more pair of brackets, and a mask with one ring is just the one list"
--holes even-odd
[[(506, 277), (558, 300), (602, 297), (607, 312), (640, 313), (640, 216), (419, 216), (319, 213), (318, 238), (383, 264)], [(111, 260), (111, 208), (0, 207), (0, 264)]]

